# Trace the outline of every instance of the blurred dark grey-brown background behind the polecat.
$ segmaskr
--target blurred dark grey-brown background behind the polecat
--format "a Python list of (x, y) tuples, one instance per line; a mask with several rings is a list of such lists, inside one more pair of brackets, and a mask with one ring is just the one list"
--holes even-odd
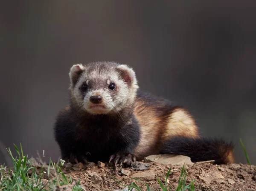
[[(0, 140), (57, 160), (52, 134), (73, 63), (132, 66), (140, 87), (186, 105), (204, 136), (256, 164), (256, 1), (1, 1)], [(5, 150), (3, 150), (6, 153)], [(0, 163), (7, 162), (0, 153)]]

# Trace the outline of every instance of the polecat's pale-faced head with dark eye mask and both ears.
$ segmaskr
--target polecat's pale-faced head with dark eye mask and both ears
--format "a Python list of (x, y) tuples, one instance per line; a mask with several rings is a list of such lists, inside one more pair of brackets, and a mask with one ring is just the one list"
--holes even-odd
[(113, 114), (134, 103), (137, 79), (127, 65), (76, 64), (69, 76), (72, 103), (90, 114)]

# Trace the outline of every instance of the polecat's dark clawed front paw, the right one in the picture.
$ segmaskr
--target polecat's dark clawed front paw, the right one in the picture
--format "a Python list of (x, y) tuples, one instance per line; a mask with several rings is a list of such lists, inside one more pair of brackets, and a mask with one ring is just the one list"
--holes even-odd
[(120, 164), (122, 166), (123, 164), (130, 166), (131, 162), (136, 162), (136, 157), (132, 154), (122, 154), (117, 153), (111, 155), (109, 158), (109, 162), (113, 161), (114, 165)]

